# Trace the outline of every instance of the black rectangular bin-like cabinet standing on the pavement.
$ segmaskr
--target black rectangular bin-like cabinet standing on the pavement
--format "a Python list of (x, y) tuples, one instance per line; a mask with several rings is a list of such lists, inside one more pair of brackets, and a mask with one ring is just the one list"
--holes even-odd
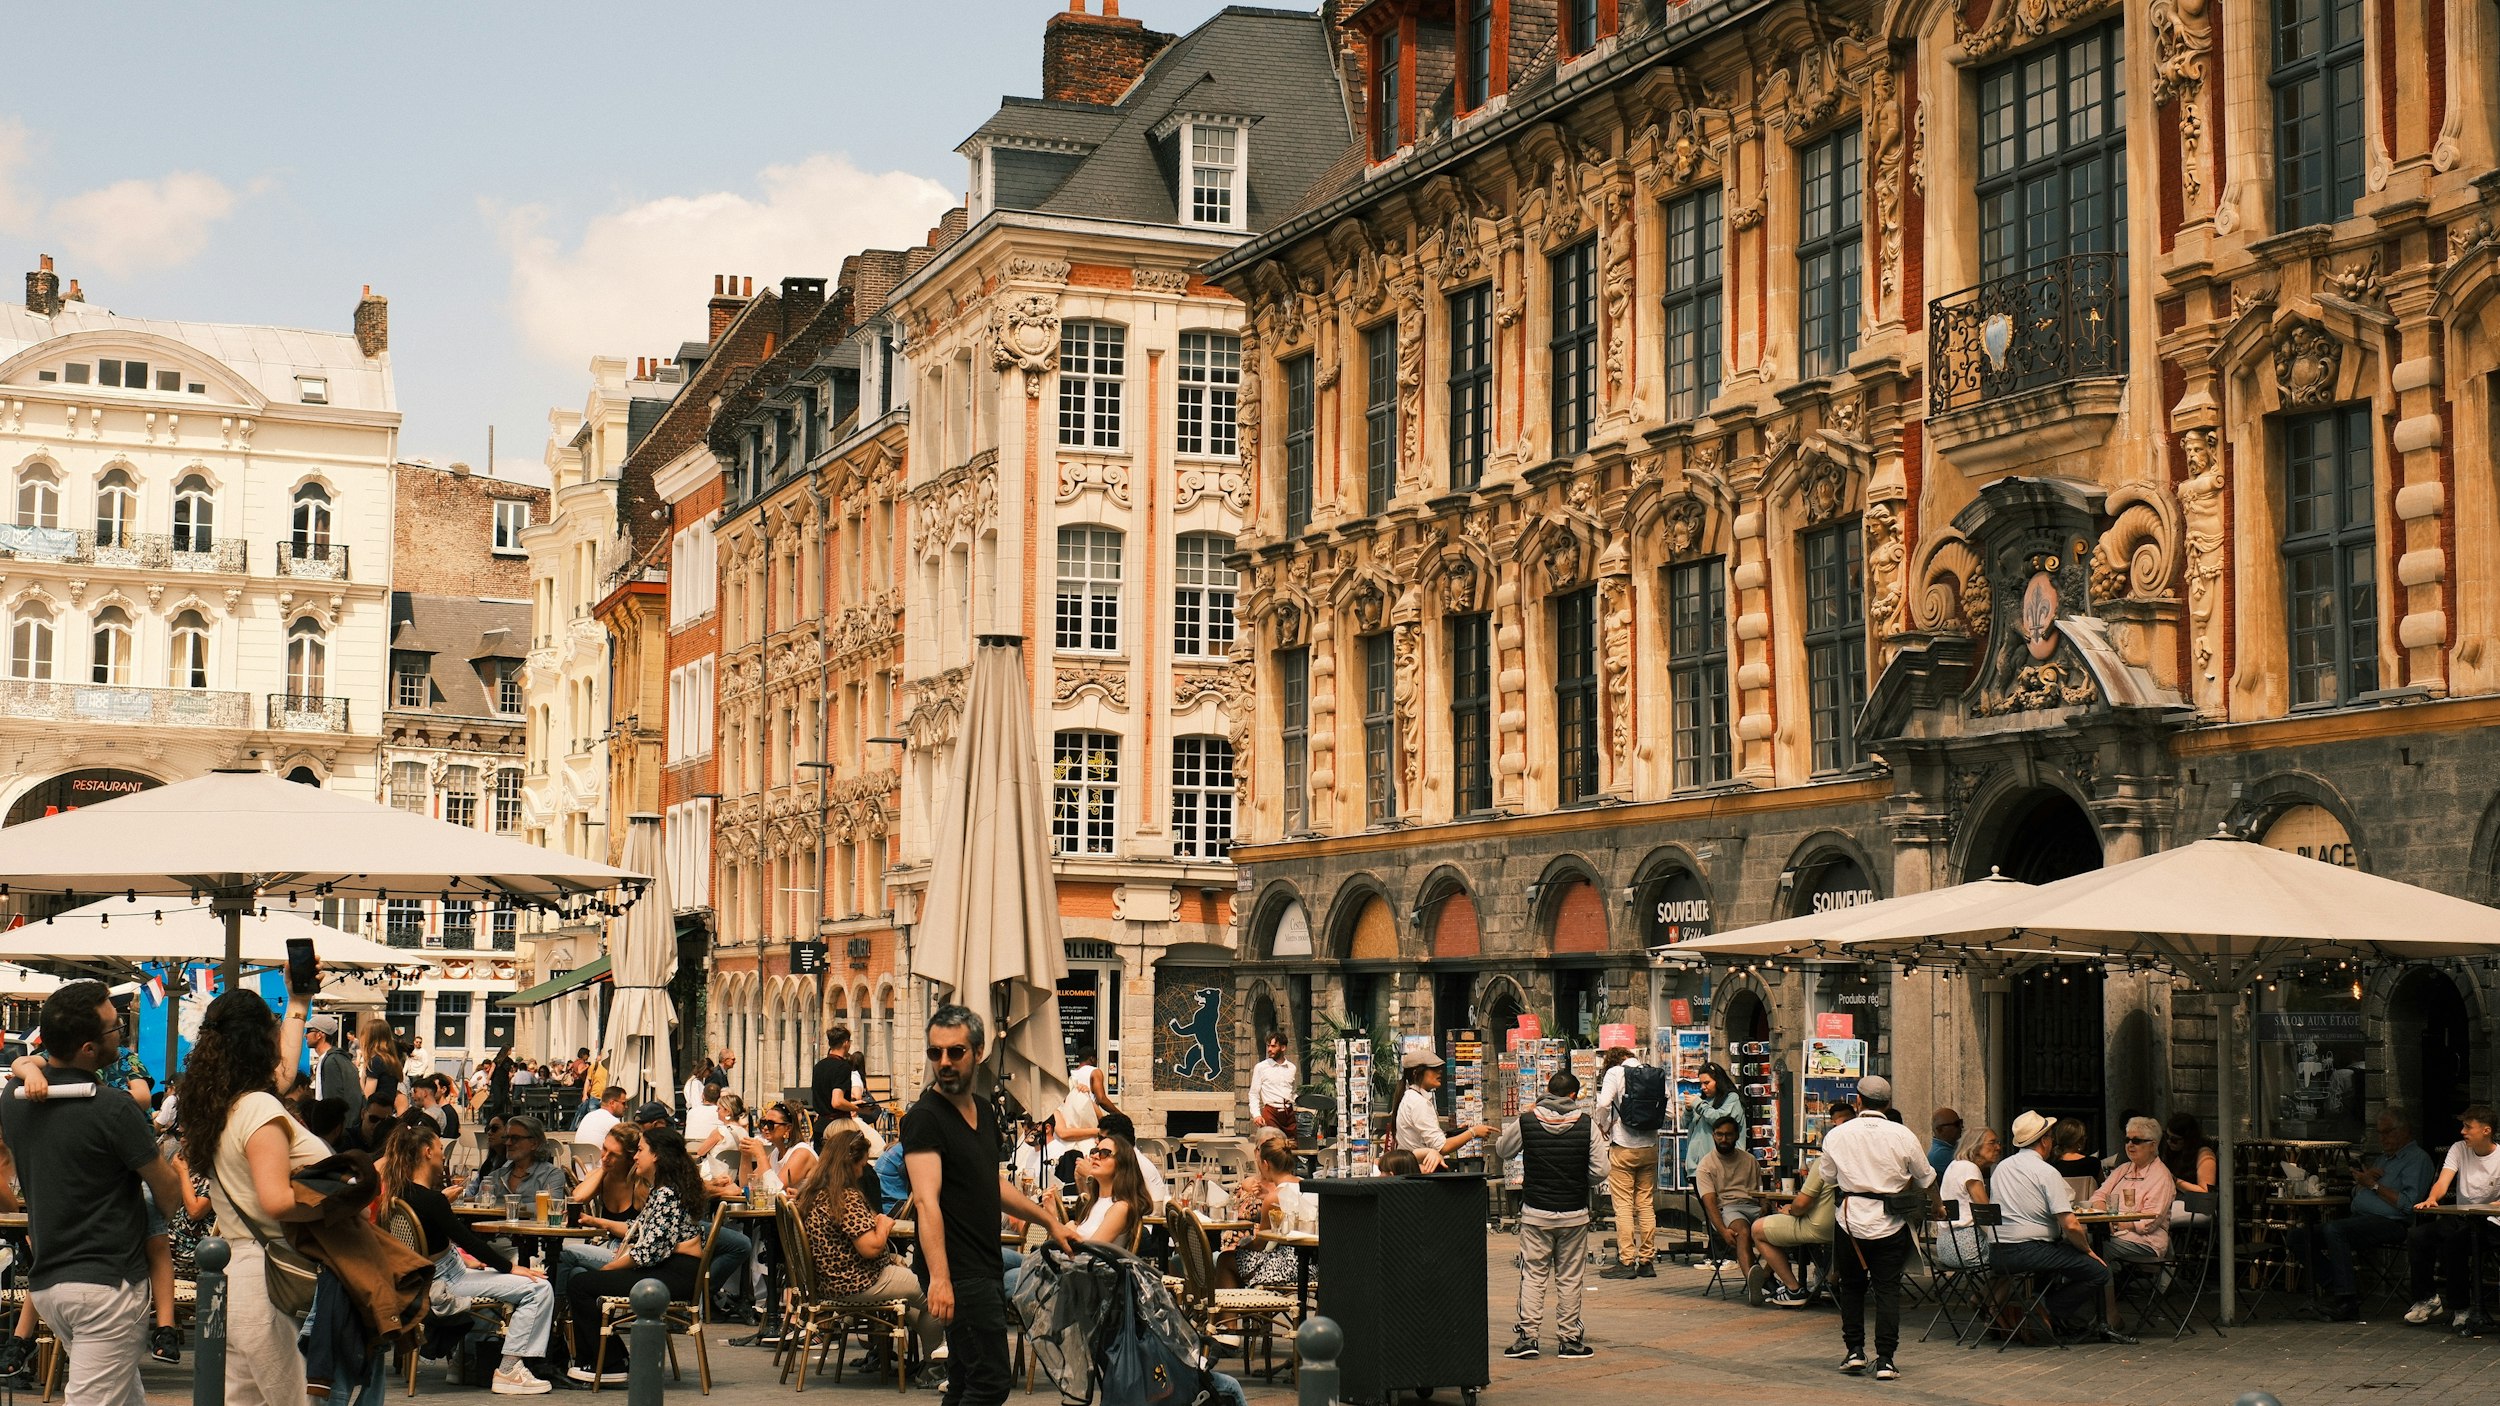
[(1485, 1321), (1485, 1178), (1305, 1181), (1320, 1198), (1320, 1313), (1345, 1328), (1338, 1396), (1458, 1391), (1492, 1381)]

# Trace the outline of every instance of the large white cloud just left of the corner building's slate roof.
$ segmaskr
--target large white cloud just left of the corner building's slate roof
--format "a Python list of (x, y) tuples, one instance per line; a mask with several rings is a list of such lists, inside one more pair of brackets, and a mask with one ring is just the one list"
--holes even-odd
[(758, 285), (835, 278), (862, 248), (910, 248), (955, 193), (848, 155), (772, 165), (758, 195), (665, 195), (598, 215), (575, 245), (548, 233), (542, 205), (495, 213), (512, 263), (512, 323), (530, 350), (580, 370), (592, 355), (670, 355), (700, 338), (715, 273)]

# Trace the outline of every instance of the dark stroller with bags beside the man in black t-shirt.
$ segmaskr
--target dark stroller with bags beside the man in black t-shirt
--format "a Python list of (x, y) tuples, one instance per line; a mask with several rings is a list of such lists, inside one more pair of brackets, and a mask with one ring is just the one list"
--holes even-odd
[(1205, 1368), (1198, 1328), (1162, 1276), (1112, 1246), (1032, 1251), (1015, 1313), (1068, 1406), (1242, 1406), (1240, 1383)]

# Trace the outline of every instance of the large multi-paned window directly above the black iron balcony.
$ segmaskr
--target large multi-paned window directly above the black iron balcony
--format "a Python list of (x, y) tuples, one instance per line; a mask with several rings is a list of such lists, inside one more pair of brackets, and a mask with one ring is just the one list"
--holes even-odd
[(2128, 248), (2125, 113), (2118, 23), (1980, 75), (1982, 280)]

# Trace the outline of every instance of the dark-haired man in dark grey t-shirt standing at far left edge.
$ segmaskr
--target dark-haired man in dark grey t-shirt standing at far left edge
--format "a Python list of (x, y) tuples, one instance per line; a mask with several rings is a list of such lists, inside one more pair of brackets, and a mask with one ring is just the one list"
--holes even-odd
[(180, 1206), (182, 1183), (158, 1156), (148, 1113), (110, 1098), (95, 1071), (122, 1056), (122, 1018), (102, 981), (72, 981), (42, 1003), (50, 1096), (0, 1091), (0, 1136), (18, 1153), (28, 1201), (35, 1311), (70, 1353), (65, 1401), (145, 1406), (148, 1206)]

